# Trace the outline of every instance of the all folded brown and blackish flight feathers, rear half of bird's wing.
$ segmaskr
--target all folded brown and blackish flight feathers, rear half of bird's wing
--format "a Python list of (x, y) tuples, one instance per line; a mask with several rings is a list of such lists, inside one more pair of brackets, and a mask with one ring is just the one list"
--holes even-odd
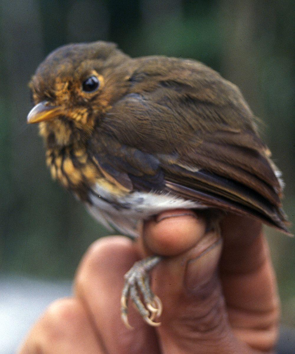
[[(240, 132), (211, 133), (195, 145), (195, 150), (188, 146), (182, 149), (186, 154), (174, 159), (165, 157), (161, 163), (166, 187), (186, 198), (205, 201), (207, 205), (229, 207), (235, 212), (240, 208), (243, 214), (287, 232), (280, 200), (282, 186), (267, 149), (258, 137), (250, 133), (246, 136), (247, 139)], [(249, 145), (239, 146), (239, 143)]]

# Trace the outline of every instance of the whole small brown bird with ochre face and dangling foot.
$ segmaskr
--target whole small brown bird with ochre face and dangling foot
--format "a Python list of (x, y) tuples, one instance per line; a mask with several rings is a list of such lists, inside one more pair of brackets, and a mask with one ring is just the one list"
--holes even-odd
[[(192, 209), (217, 228), (224, 213), (288, 233), (284, 182), (238, 87), (193, 59), (131, 58), (104, 41), (50, 53), (29, 83), (53, 179), (98, 222), (136, 238), (138, 224)], [(160, 255), (125, 275), (128, 302), (149, 325), (162, 306), (149, 285)]]

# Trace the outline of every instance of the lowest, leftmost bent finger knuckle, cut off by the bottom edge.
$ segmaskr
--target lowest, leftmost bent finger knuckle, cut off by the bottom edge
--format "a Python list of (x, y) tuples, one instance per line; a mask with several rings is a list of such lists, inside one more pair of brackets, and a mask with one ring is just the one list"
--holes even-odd
[(85, 309), (73, 298), (51, 304), (18, 353), (106, 354)]

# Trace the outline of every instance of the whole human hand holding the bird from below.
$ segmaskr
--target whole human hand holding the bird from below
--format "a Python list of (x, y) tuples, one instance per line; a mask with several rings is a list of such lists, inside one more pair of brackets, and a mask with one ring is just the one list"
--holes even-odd
[[(222, 246), (219, 233), (206, 233), (202, 217), (180, 214), (147, 221), (136, 243), (121, 236), (96, 241), (80, 263), (74, 296), (49, 306), (19, 354), (270, 353), (279, 300), (260, 222), (226, 217)], [(148, 326), (130, 307), (134, 330), (126, 329), (124, 274), (155, 253), (173, 256), (152, 272), (163, 302), (161, 326)]]

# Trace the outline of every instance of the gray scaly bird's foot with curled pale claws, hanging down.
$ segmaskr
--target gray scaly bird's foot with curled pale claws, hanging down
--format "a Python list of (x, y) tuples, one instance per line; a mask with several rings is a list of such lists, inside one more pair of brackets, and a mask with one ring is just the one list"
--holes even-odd
[[(134, 263), (133, 267), (125, 274), (125, 284), (121, 297), (121, 318), (128, 328), (128, 300), (134, 303), (138, 312), (149, 325), (159, 326), (160, 322), (154, 322), (162, 312), (161, 300), (155, 296), (149, 285), (149, 272), (157, 265), (162, 257), (151, 256)], [(141, 300), (141, 295), (143, 301)]]

